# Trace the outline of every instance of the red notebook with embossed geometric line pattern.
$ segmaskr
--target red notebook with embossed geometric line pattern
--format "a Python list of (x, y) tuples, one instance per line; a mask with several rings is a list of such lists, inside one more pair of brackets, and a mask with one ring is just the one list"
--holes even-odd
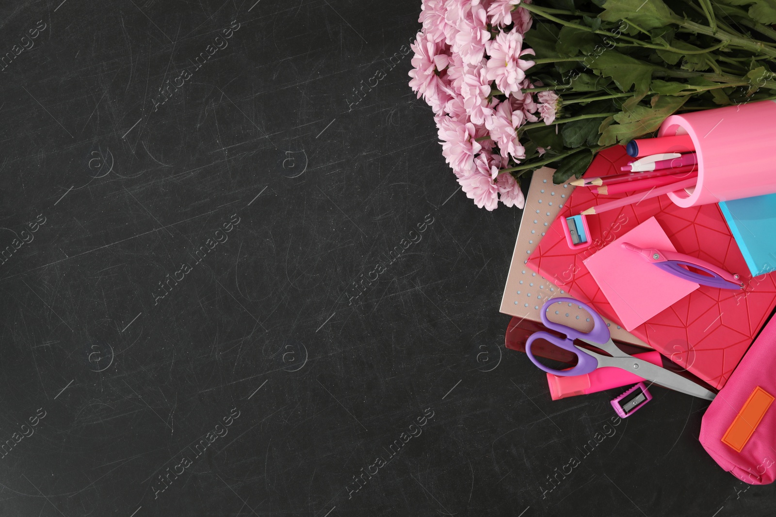
[[(624, 146), (610, 147), (596, 155), (584, 175), (616, 174), (629, 159)], [(745, 289), (701, 285), (631, 333), (715, 388), (722, 388), (776, 306), (776, 272), (752, 278), (718, 205), (682, 209), (666, 195), (587, 215), (594, 242), (583, 250), (570, 250), (560, 219), (625, 195), (600, 195), (595, 188), (576, 188), (526, 265), (544, 277), (562, 279), (559, 288), (621, 323), (583, 260), (655, 217), (679, 253), (740, 274)]]

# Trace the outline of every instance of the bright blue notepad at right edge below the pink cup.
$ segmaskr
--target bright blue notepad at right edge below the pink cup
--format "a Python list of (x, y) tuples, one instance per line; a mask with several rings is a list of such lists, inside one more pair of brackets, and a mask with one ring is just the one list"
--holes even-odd
[(752, 276), (776, 271), (776, 194), (720, 202), (719, 209)]

